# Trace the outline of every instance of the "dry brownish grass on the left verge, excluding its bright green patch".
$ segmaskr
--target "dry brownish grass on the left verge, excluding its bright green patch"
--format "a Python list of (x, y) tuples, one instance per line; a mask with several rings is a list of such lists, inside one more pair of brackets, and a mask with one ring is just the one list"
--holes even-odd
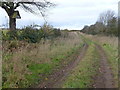
[[(31, 84), (25, 75), (32, 72), (28, 66), (31, 64), (52, 63), (55, 57), (66, 56), (72, 49), (77, 48), (83, 41), (74, 32), (53, 40), (41, 40), (40, 43), (23, 45), (12, 52), (8, 50), (8, 42), (4, 43), (3, 48), (3, 87), (26, 87)], [(31, 77), (32, 78), (32, 77)]]

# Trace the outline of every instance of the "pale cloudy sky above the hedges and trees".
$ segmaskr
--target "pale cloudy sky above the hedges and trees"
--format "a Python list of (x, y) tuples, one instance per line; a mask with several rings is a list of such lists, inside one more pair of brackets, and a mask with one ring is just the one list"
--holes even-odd
[[(118, 13), (119, 0), (50, 0), (57, 4), (55, 8), (47, 12), (47, 21), (54, 27), (61, 29), (82, 29), (84, 25), (94, 24), (99, 14), (106, 10), (114, 10)], [(18, 8), (19, 9), (19, 8)], [(21, 9), (22, 19), (17, 20), (17, 27), (30, 24), (42, 25), (44, 20), (41, 16), (27, 13)], [(8, 16), (0, 8), (0, 25), (7, 24)]]

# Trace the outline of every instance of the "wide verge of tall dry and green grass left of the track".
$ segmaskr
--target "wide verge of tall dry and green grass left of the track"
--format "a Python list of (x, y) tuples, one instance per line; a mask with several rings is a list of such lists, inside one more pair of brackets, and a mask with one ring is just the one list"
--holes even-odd
[(37, 84), (83, 43), (73, 32), (40, 43), (14, 42), (16, 48), (11, 48), (10, 42), (3, 43), (3, 88)]

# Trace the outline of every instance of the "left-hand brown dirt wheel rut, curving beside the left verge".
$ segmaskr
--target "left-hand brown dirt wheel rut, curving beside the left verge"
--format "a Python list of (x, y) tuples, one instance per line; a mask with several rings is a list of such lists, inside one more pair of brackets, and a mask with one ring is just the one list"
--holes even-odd
[(62, 67), (58, 71), (54, 72), (52, 75), (48, 77), (47, 81), (43, 81), (38, 85), (37, 88), (58, 88), (61, 87), (62, 82), (64, 79), (69, 75), (70, 71), (77, 66), (77, 64), (80, 62), (80, 60), (85, 56), (85, 53), (87, 51), (88, 45), (85, 44), (83, 48), (80, 50), (80, 54), (77, 57), (77, 59), (72, 60), (69, 64)]

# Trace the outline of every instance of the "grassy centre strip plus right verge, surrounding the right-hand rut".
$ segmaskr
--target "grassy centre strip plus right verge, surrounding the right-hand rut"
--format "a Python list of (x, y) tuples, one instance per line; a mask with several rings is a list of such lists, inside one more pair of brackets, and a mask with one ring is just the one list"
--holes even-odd
[[(118, 86), (118, 52), (117, 48), (109, 42), (102, 42), (97, 40), (94, 36), (81, 35), (81, 38), (88, 43), (89, 48), (85, 58), (78, 64), (78, 66), (71, 72), (71, 75), (65, 80), (63, 88), (93, 88), (94, 76), (100, 74), (100, 53), (95, 45), (99, 44), (108, 57), (107, 62), (112, 70), (114, 76), (115, 87)], [(103, 37), (102, 37), (103, 38)], [(109, 37), (108, 37), (109, 38)], [(108, 39), (107, 38), (107, 39)], [(100, 39), (100, 38), (99, 38)], [(112, 40), (112, 39), (111, 39)], [(98, 42), (99, 41), (99, 42)], [(102, 52), (101, 52), (102, 54)], [(103, 86), (104, 87), (104, 86)]]

